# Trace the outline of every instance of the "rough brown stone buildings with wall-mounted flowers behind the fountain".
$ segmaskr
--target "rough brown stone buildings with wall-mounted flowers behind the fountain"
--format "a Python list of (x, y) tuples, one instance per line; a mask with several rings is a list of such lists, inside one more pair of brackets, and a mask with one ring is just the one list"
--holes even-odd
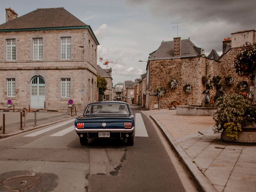
[[(146, 108), (152, 110), (159, 108), (168, 108), (172, 101), (180, 102), (180, 105), (201, 105), (204, 102), (205, 86), (202, 84), (202, 77), (208, 76), (212, 79), (214, 76), (221, 76), (222, 82), (227, 76), (234, 76), (236, 84), (240, 80), (248, 80), (238, 77), (234, 72), (233, 61), (240, 51), (240, 46), (245, 42), (255, 41), (255, 30), (238, 32), (231, 34), (231, 40), (223, 41), (223, 54), (218, 56), (215, 50), (212, 50), (206, 57), (204, 49), (196, 47), (190, 39), (180, 40), (174, 38), (174, 41), (162, 42), (160, 47), (150, 53), (146, 67)], [(239, 37), (239, 38), (238, 38)], [(168, 83), (176, 79), (178, 86), (170, 89)], [(185, 93), (183, 86), (190, 84), (192, 92)], [(157, 86), (166, 89), (164, 96), (158, 101), (158, 96), (154, 94)], [(232, 88), (223, 89), (226, 93), (235, 92), (235, 85)], [(214, 98), (216, 90), (210, 91), (211, 98)]]

